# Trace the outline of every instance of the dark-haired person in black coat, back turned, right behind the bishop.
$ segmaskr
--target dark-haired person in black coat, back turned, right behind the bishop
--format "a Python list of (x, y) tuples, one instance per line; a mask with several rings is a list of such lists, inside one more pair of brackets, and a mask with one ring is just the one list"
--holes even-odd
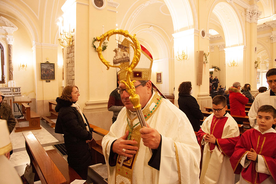
[(193, 93), (191, 82), (182, 82), (178, 87), (178, 92), (179, 109), (186, 114), (194, 131), (197, 132), (200, 129), (200, 120), (203, 120), (204, 116), (197, 100), (191, 95)]

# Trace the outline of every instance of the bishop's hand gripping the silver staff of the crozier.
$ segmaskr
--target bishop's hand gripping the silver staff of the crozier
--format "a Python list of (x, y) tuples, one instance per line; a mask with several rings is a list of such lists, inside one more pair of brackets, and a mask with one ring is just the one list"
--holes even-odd
[(148, 123), (147, 126), (148, 127), (143, 127), (140, 129), (141, 138), (144, 142), (144, 145), (151, 149), (157, 149), (160, 144), (161, 135), (156, 129), (151, 128)]

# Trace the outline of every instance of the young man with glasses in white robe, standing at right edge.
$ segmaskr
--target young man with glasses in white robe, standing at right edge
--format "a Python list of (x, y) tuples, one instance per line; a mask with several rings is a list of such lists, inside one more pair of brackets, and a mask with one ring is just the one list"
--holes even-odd
[[(254, 128), (257, 125), (257, 112), (262, 105), (272, 105), (276, 107), (276, 68), (272, 68), (266, 72), (266, 81), (270, 90), (256, 96), (248, 113), (250, 126)], [(272, 126), (275, 128), (275, 126)]]

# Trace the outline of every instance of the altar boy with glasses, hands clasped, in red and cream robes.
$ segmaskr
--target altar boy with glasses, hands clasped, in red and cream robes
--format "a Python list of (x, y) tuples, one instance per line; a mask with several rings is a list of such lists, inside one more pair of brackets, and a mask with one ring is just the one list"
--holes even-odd
[(205, 145), (200, 183), (235, 182), (229, 158), (240, 138), (240, 131), (226, 109), (226, 98), (222, 95), (215, 96), (212, 101), (213, 113), (204, 120), (197, 132), (199, 145)]

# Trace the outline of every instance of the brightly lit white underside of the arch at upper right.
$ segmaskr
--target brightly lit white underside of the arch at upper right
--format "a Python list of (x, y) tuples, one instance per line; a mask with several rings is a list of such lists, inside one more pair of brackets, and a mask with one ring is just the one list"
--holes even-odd
[(222, 2), (220, 0), (215, 0), (213, 2), (208, 15), (208, 30), (211, 13), (214, 13), (220, 21), (224, 32), (225, 47), (246, 45), (241, 17), (232, 3)]

